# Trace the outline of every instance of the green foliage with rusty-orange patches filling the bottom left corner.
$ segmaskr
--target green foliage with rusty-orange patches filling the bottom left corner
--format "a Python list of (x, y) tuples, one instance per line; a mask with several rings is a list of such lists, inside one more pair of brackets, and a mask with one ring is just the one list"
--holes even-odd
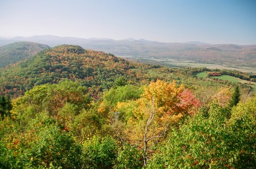
[[(14, 126), (14, 125), (13, 125)], [(18, 130), (16, 130), (18, 129)], [(54, 125), (47, 113), (38, 114), (22, 130), (14, 128), (1, 142), (9, 145), (0, 155), (6, 168), (80, 167), (80, 148), (68, 133)], [(19, 135), (12, 136), (15, 131)], [(14, 132), (14, 133), (12, 133)], [(4, 167), (4, 168), (5, 168)]]

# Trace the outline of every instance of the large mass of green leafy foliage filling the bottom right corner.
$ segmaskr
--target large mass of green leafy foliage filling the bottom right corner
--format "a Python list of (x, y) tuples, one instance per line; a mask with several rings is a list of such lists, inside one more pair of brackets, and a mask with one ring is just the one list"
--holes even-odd
[[(232, 110), (213, 105), (173, 129), (149, 168), (255, 168), (255, 98)], [(244, 113), (246, 112), (246, 113)]]

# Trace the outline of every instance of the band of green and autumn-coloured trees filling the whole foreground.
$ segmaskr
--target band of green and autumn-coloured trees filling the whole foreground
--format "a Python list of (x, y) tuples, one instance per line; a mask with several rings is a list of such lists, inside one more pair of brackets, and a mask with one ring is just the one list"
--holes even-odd
[(0, 100), (0, 168), (254, 169), (256, 98), (240, 96), (198, 99), (157, 80), (119, 83), (95, 102), (71, 80), (36, 86)]

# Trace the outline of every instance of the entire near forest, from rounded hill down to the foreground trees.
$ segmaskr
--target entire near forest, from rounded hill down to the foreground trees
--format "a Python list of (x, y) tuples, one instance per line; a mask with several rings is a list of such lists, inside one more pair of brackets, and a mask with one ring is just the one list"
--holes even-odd
[(40, 50), (0, 69), (0, 168), (255, 169), (255, 79)]

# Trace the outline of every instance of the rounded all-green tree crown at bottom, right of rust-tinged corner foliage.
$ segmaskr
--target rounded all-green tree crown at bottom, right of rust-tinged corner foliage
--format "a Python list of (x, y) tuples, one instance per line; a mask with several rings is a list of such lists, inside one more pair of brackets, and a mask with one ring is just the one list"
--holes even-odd
[(80, 167), (79, 145), (67, 133), (61, 132), (56, 126), (47, 126), (40, 129), (37, 136), (37, 141), (26, 149), (32, 157), (33, 166), (44, 164), (50, 167), (52, 164), (63, 168)]

